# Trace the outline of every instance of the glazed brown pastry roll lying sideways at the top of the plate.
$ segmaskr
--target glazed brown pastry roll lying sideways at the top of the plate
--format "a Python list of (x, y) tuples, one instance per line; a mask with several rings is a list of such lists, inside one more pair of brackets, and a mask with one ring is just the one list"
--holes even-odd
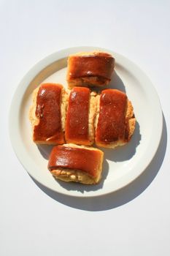
[(106, 86), (111, 80), (115, 59), (109, 53), (93, 51), (69, 56), (66, 80), (74, 86)]

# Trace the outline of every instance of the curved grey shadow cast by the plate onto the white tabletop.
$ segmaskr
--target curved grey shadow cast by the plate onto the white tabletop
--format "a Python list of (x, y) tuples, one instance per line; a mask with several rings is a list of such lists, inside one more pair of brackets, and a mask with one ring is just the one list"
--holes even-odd
[(50, 189), (42, 186), (39, 182), (35, 181), (36, 185), (42, 189), (48, 196), (52, 197), (59, 203), (63, 203), (66, 206), (85, 210), (85, 211), (106, 211), (118, 206), (122, 206), (125, 203), (134, 200), (137, 196), (142, 194), (145, 189), (152, 183), (158, 171), (161, 168), (163, 159), (166, 154), (167, 145), (167, 129), (166, 121), (163, 116), (163, 131), (161, 135), (161, 142), (158, 146), (158, 150), (153, 157), (150, 165), (144, 170), (141, 176), (136, 178), (131, 184), (118, 190), (117, 192), (112, 192), (109, 195), (103, 195), (100, 197), (69, 197), (67, 195), (61, 195), (57, 192), (53, 192)]

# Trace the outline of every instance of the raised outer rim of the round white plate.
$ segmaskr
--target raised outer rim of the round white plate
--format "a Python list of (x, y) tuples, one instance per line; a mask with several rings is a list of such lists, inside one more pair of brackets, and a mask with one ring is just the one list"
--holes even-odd
[[(135, 67), (135, 69), (137, 71), (139, 71), (144, 78), (146, 78), (147, 82), (150, 84), (150, 88), (151, 91), (155, 94), (155, 98), (157, 99), (157, 109), (158, 109), (158, 120), (159, 120), (159, 128), (158, 129), (158, 133), (157, 133), (157, 140), (155, 140), (155, 147), (152, 148), (152, 157), (150, 157), (150, 159), (147, 159), (147, 163), (145, 163), (144, 167), (142, 168), (142, 170), (140, 170), (139, 172), (136, 173), (136, 176), (133, 176), (132, 178), (130, 178), (128, 180), (128, 182), (126, 182), (124, 185), (120, 185), (118, 186), (116, 189), (112, 190), (112, 189), (106, 189), (104, 191), (102, 191), (102, 188), (96, 191), (89, 191), (89, 192), (85, 192), (83, 194), (78, 193), (77, 191), (68, 191), (66, 190), (66, 192), (63, 191), (58, 191), (56, 189), (51, 188), (50, 186), (47, 186), (47, 184), (45, 184), (44, 182), (41, 181), (41, 179), (37, 178), (36, 176), (34, 176), (33, 173), (30, 172), (30, 170), (28, 170), (28, 168), (24, 165), (22, 159), (22, 154), (20, 154), (20, 150), (18, 148), (20, 148), (20, 142), (17, 145), (16, 141), (15, 141), (15, 136), (14, 136), (14, 129), (13, 129), (13, 124), (16, 123), (18, 120), (16, 118), (14, 118), (14, 111), (16, 106), (18, 107), (17, 109), (20, 111), (20, 102), (22, 102), (23, 100), (23, 96), (26, 89), (28, 88), (28, 85), (30, 84), (31, 80), (34, 79), (34, 77), (42, 71), (42, 69), (44, 69), (45, 67), (47, 67), (48, 65), (52, 64), (53, 62), (59, 60), (59, 59), (63, 59), (68, 57), (69, 54), (78, 52), (78, 51), (82, 51), (82, 50), (105, 50), (109, 53), (112, 53), (112, 55), (114, 56), (114, 54), (116, 56), (119, 56), (120, 59), (124, 59), (125, 61), (128, 61), (129, 63), (131, 63), (132, 66)], [(56, 58), (57, 56), (57, 58)], [(26, 82), (27, 81), (27, 82)], [(25, 86), (23, 86), (23, 84), (25, 84)], [(27, 84), (27, 86), (26, 86)], [(22, 95), (18, 95), (18, 91), (22, 91)], [(20, 99), (20, 100), (18, 100)], [(16, 103), (17, 102), (17, 103)], [(15, 107), (15, 108), (14, 108)], [(15, 111), (16, 112), (16, 111)], [(19, 112), (18, 112), (19, 115)], [(19, 117), (19, 116), (18, 116)], [(15, 119), (15, 120), (14, 120)], [(18, 121), (19, 122), (19, 121)], [(121, 55), (120, 53), (114, 52), (112, 50), (109, 49), (105, 49), (105, 48), (100, 48), (100, 47), (93, 47), (93, 46), (76, 46), (76, 47), (72, 47), (72, 48), (64, 48), (58, 51), (55, 51), (54, 53), (51, 53), (50, 55), (46, 56), (45, 58), (42, 58), (40, 61), (36, 61), (36, 64), (34, 64), (31, 69), (28, 70), (28, 72), (26, 72), (26, 74), (23, 76), (22, 80), (20, 80), (20, 83), (18, 84), (17, 88), (15, 89), (15, 94), (13, 94), (12, 97), (12, 102), (9, 108), (9, 138), (12, 144), (12, 148), (15, 151), (15, 155), (18, 158), (19, 162), (21, 163), (21, 165), (23, 165), (24, 169), (27, 171), (27, 173), (34, 178), (36, 181), (39, 182), (39, 184), (42, 184), (42, 186), (46, 187), (47, 189), (52, 190), (53, 192), (58, 192), (62, 195), (67, 195), (67, 196), (71, 196), (71, 197), (98, 197), (101, 195), (107, 195), (110, 194), (112, 192), (116, 192), (119, 189), (123, 189), (123, 187), (128, 186), (129, 184), (131, 184), (133, 181), (136, 180), (136, 178), (138, 178), (143, 172), (144, 170), (147, 169), (147, 167), (150, 165), (150, 162), (152, 161), (153, 157), (155, 156), (156, 151), (158, 150), (158, 146), (160, 144), (161, 141), (161, 135), (162, 135), (162, 129), (163, 129), (163, 114), (162, 114), (162, 109), (161, 109), (161, 102), (160, 99), (158, 97), (158, 93), (155, 89), (155, 87), (152, 85), (152, 82), (150, 80), (150, 78), (148, 78), (148, 76), (142, 71), (142, 69), (136, 65), (133, 61), (129, 60), (128, 58), (126, 58), (125, 56)], [(15, 127), (16, 130), (17, 127)], [(90, 194), (91, 193), (91, 194)]]

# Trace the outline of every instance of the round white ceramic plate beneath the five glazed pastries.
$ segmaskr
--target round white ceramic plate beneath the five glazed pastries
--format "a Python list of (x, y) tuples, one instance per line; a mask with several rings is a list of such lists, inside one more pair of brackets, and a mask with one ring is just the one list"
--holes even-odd
[[(31, 140), (28, 109), (31, 93), (42, 82), (66, 86), (66, 60), (80, 51), (105, 50), (116, 60), (110, 87), (125, 91), (134, 106), (136, 129), (126, 146), (104, 150), (103, 178), (96, 186), (55, 181), (47, 170), (52, 147), (37, 147)], [(161, 140), (162, 111), (152, 83), (134, 63), (111, 50), (77, 47), (61, 50), (39, 61), (21, 80), (12, 99), (9, 133), (15, 154), (28, 173), (49, 189), (65, 195), (91, 197), (104, 195), (134, 181), (150, 164)], [(101, 148), (102, 149), (102, 148)], [(103, 149), (102, 149), (103, 150)]]

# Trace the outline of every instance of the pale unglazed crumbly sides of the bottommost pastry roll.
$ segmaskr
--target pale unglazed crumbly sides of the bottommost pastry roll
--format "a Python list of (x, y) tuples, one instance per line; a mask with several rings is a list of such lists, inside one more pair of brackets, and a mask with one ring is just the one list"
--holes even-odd
[(98, 170), (96, 171), (96, 176), (95, 177), (90, 176), (88, 173), (85, 173), (85, 171), (74, 170), (70, 168), (62, 168), (62, 167), (56, 167), (56, 168), (53, 167), (52, 170), (50, 170), (50, 173), (52, 173), (52, 175), (55, 178), (58, 178), (61, 181), (66, 181), (66, 182), (74, 181), (82, 184), (98, 184), (98, 182), (101, 180), (104, 153), (97, 148), (92, 148), (87, 146), (77, 146), (72, 143), (64, 144), (63, 146), (67, 148), (68, 147), (77, 148), (77, 149), (85, 148), (88, 151), (97, 151), (100, 154), (100, 160), (98, 163)]

